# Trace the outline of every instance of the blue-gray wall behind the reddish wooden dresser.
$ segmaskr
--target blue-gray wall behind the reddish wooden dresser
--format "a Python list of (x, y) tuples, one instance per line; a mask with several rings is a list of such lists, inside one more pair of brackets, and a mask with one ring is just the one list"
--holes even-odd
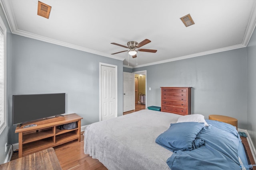
[(147, 106), (161, 106), (161, 86), (192, 87), (191, 112), (219, 114), (238, 119), (247, 128), (246, 48), (156, 64), (147, 70)]

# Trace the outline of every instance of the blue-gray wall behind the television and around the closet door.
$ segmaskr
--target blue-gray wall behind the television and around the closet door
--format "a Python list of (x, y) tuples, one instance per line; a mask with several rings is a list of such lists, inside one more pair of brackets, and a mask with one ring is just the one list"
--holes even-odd
[[(36, 39), (12, 35), (12, 95), (66, 93), (66, 113), (99, 121), (99, 63), (118, 66), (118, 116), (123, 111), (123, 63)], [(12, 113), (9, 112), (9, 115)], [(18, 134), (12, 128), (12, 143)]]

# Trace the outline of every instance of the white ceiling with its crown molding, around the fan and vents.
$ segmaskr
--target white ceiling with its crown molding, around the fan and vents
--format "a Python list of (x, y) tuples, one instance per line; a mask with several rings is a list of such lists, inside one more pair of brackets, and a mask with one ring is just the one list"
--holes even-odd
[[(256, 23), (255, 0), (40, 0), (50, 18), (37, 15), (38, 0), (0, 0), (12, 33), (124, 60), (112, 45), (150, 39), (129, 57), (140, 67), (246, 47)], [(190, 14), (194, 25), (180, 18)], [(137, 60), (138, 59), (138, 60)], [(138, 64), (136, 64), (138, 62)]]

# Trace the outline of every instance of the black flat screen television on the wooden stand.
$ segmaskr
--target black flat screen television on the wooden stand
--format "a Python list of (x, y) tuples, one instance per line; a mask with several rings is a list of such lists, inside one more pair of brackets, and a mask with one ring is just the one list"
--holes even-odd
[(65, 111), (65, 93), (12, 96), (13, 125), (60, 115)]

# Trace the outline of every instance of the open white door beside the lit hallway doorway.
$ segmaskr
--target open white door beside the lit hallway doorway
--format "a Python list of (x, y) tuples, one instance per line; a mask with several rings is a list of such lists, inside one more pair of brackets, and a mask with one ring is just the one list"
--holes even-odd
[(134, 96), (134, 73), (123, 73), (123, 91), (124, 91), (124, 109), (123, 112), (135, 109), (135, 96)]

